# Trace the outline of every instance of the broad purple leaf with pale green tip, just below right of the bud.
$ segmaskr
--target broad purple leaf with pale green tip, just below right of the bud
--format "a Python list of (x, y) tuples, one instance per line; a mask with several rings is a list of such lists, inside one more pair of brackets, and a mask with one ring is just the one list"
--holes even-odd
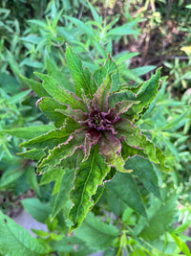
[(104, 131), (98, 141), (99, 151), (104, 156), (105, 162), (117, 171), (127, 173), (123, 168), (124, 160), (121, 157), (121, 144), (112, 131)]

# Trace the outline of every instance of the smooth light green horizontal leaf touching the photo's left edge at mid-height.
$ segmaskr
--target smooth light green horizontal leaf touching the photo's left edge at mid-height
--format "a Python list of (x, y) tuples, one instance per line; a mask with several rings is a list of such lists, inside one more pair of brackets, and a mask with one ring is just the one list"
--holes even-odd
[(21, 139), (31, 139), (33, 137), (41, 135), (42, 133), (48, 132), (53, 128), (54, 128), (53, 125), (44, 125), (44, 126), (26, 127), (26, 128), (11, 128), (11, 129), (0, 130), (0, 133), (7, 133)]

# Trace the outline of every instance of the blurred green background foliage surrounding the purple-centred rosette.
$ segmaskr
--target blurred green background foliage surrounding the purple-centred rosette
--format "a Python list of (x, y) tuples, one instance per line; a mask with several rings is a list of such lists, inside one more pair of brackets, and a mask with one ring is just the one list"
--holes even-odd
[[(190, 255), (184, 244), (189, 238), (182, 235), (191, 221), (189, 1), (3, 0), (0, 5), (1, 254), (13, 255), (16, 249), (25, 255), (88, 255), (98, 250), (104, 255)], [(61, 73), (62, 82), (72, 83), (65, 42), (91, 72), (111, 53), (120, 83), (136, 85), (159, 66), (161, 75), (168, 76), (137, 123), (165, 151), (172, 170), (170, 175), (157, 173), (162, 202), (138, 183), (148, 206), (147, 223), (125, 201), (129, 194), (121, 195), (118, 184), (123, 177), (118, 175), (106, 185), (93, 212), (68, 236), (70, 175), (65, 179), (66, 174), (55, 168), (50, 175), (36, 176), (41, 152), (33, 159), (29, 155), (31, 160), (21, 156), (21, 142), (53, 129), (35, 106), (37, 95), (45, 92), (33, 71)], [(67, 203), (63, 206), (61, 200)], [(46, 223), (49, 232), (33, 230), (38, 238), (32, 239), (11, 221), (7, 215), (14, 215), (21, 204), (34, 219)]]

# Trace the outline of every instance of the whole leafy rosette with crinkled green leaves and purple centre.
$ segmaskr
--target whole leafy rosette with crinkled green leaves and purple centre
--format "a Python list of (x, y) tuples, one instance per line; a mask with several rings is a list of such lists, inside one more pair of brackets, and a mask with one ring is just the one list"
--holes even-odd
[[(71, 47), (67, 47), (66, 59), (74, 85), (65, 82), (50, 61), (49, 75), (36, 73), (43, 81), (42, 86), (29, 81), (41, 97), (37, 104), (55, 129), (21, 146), (32, 149), (26, 152), (28, 155), (43, 152), (37, 167), (39, 175), (55, 167), (75, 170), (74, 187), (70, 192), (73, 207), (69, 213), (73, 230), (101, 196), (103, 183), (112, 179), (116, 171), (126, 173), (132, 190), (137, 189), (133, 176), (128, 174), (135, 171), (138, 175), (135, 157), (145, 159), (147, 164), (149, 159), (152, 163), (151, 171), (148, 169), (141, 174), (142, 182), (157, 196), (159, 190), (153, 189), (158, 186), (153, 166), (155, 164), (160, 171), (169, 170), (164, 165), (163, 153), (135, 126), (158, 93), (159, 70), (138, 86), (121, 86), (117, 66), (110, 56), (94, 75), (83, 67)], [(140, 197), (139, 200), (139, 208), (135, 202), (130, 203), (130, 207), (145, 213)]]

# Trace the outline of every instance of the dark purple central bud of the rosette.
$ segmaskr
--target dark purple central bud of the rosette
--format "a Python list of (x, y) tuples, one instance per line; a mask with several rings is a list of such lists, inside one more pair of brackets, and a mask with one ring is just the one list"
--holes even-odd
[(89, 114), (88, 125), (90, 128), (96, 128), (97, 130), (106, 130), (110, 129), (111, 122), (105, 118), (103, 113), (95, 110)]

